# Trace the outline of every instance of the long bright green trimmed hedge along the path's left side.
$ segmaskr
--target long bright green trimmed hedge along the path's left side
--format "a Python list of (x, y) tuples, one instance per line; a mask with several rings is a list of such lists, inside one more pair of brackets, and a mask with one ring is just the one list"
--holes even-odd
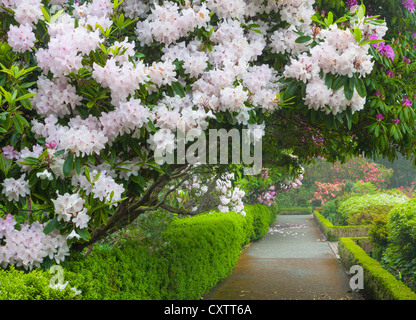
[[(47, 271), (0, 270), (0, 299), (71, 299), (70, 287), (85, 300), (200, 299), (229, 276), (250, 241), (266, 235), (276, 210), (246, 206), (235, 212), (204, 213), (175, 220), (158, 248), (129, 240), (121, 248), (73, 254), (63, 264), (67, 291), (50, 288)], [(66, 292), (66, 293), (65, 293)]]

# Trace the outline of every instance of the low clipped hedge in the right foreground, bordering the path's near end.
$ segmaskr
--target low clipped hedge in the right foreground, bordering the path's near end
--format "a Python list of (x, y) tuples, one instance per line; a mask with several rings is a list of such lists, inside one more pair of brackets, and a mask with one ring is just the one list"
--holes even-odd
[(377, 260), (370, 258), (354, 242), (354, 238), (340, 238), (338, 240), (338, 253), (347, 269), (353, 265), (363, 267), (363, 294), (367, 299), (416, 300), (416, 293), (383, 269)]

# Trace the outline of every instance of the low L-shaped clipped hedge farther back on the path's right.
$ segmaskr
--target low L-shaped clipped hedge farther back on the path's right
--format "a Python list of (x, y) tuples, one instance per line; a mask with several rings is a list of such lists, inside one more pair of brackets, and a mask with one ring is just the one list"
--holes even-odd
[(326, 219), (317, 210), (313, 213), (315, 221), (318, 223), (328, 241), (336, 241), (342, 237), (367, 237), (370, 226), (334, 226), (331, 221)]

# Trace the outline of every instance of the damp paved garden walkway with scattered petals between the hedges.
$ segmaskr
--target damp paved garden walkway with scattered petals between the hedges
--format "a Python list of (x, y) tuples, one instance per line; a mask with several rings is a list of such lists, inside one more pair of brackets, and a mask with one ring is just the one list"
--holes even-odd
[(312, 215), (281, 215), (204, 300), (355, 300)]

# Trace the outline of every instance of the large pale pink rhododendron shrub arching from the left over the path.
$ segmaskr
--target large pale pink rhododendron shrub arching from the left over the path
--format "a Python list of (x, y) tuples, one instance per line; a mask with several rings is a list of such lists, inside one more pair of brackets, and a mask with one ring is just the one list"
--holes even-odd
[[(16, 57), (0, 82), (2, 202), (20, 217), (19, 241), (38, 234), (39, 251), (21, 262), (29, 267), (63, 259), (45, 249), (48, 237), (80, 250), (144, 212), (173, 210), (168, 196), (192, 173), (179, 145), (208, 129), (255, 127), (259, 143), (296, 97), (300, 113), (350, 126), (388, 30), (364, 6), (321, 20), (311, 0), (0, 2)], [(212, 192), (220, 210), (239, 211), (243, 192), (229, 180)], [(14, 254), (15, 233), (3, 235), (3, 255)]]

